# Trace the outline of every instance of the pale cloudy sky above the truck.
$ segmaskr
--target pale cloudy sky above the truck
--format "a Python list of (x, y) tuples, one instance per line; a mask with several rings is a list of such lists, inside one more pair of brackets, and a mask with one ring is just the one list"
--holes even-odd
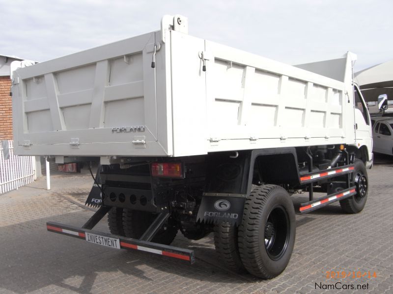
[(393, 59), (392, 0), (0, 0), (0, 54), (45, 61), (188, 17), (189, 34), (288, 64)]

